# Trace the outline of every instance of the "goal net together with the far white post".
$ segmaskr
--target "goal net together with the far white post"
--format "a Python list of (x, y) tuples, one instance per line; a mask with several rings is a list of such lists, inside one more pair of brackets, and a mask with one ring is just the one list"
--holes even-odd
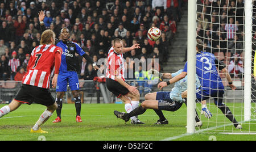
[[(196, 2), (196, 39), (203, 41), (205, 52), (214, 54), (220, 61), (217, 67), (220, 68), (221, 62), (226, 65), (226, 70), (218, 70), (224, 85), (223, 97), (218, 92), (217, 97), (208, 96), (207, 99), (207, 107), (213, 115), (212, 118), (207, 119), (204, 115), (200, 115), (201, 104), (196, 104), (197, 113), (203, 122), (201, 128), (196, 127), (196, 132), (203, 130), (256, 133), (256, 58), (254, 58), (256, 1), (196, 0)], [(206, 60), (201, 61), (204, 62), (204, 67), (209, 67)], [(207, 68), (201, 70), (202, 73), (214, 74), (214, 71), (209, 71)], [(229, 75), (236, 90), (230, 88)], [(221, 105), (220, 98), (226, 109), (217, 106)], [(232, 114), (234, 117), (231, 116)], [(230, 119), (236, 119), (242, 129), (237, 129)]]

